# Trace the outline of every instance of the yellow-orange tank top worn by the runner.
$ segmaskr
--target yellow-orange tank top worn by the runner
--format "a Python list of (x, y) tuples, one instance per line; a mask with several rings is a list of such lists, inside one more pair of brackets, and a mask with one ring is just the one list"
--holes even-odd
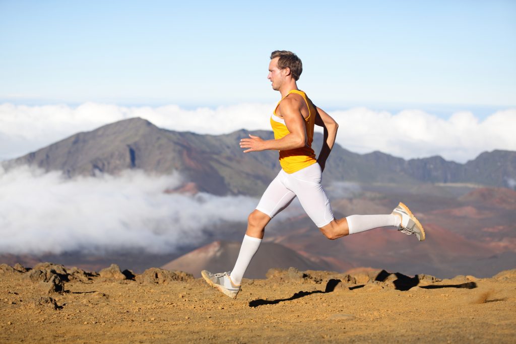
[[(291, 93), (297, 93), (303, 97), (308, 106), (309, 116), (304, 119), (304, 123), (307, 126), (307, 144), (301, 148), (280, 151), (280, 165), (286, 173), (297, 172), (317, 162), (314, 150), (312, 149), (312, 141), (314, 139), (315, 107), (312, 102), (308, 101), (307, 94), (303, 91), (291, 90), (288, 92), (288, 94)], [(287, 95), (285, 95), (285, 97)], [(278, 102), (278, 105), (276, 105), (276, 108), (270, 117), (270, 125), (272, 126), (272, 131), (274, 132), (274, 138), (276, 140), (290, 134), (285, 125), (285, 120), (276, 116), (276, 109), (285, 97)]]

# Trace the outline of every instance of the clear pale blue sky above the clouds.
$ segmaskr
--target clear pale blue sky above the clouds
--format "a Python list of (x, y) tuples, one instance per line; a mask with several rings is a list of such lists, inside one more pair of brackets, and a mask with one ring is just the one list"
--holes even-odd
[(0, 0), (0, 47), (0, 103), (268, 103), (285, 49), (329, 109), (516, 105), (514, 1)]

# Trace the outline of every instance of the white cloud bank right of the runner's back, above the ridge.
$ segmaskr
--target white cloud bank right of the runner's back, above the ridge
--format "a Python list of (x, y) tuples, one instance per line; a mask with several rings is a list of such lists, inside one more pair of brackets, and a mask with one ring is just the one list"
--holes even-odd
[(485, 151), (516, 150), (516, 109), (497, 111), (484, 121), (471, 112), (444, 120), (421, 110), (391, 114), (353, 108), (331, 115), (341, 124), (337, 142), (357, 153), (378, 150), (405, 159), (440, 155), (465, 162)]

